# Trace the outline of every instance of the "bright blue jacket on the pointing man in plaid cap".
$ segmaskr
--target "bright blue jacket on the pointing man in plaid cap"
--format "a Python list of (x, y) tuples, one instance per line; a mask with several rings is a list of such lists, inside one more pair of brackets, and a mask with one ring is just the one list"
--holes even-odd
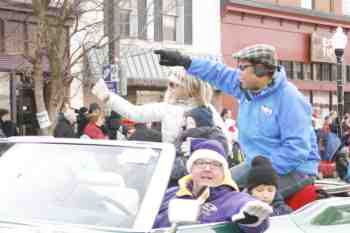
[(249, 165), (255, 156), (263, 155), (279, 175), (317, 174), (320, 156), (311, 106), (288, 82), (283, 67), (259, 94), (243, 90), (240, 71), (222, 63), (192, 59), (187, 71), (238, 99), (238, 138)]

